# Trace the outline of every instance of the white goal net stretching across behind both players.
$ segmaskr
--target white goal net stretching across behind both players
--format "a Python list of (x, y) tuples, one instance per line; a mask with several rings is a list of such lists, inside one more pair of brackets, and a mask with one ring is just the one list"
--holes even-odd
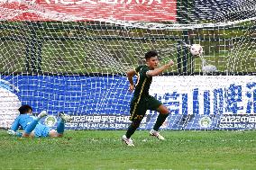
[[(163, 130), (256, 128), (253, 0), (0, 0), (0, 128), (17, 108), (66, 112), (72, 130), (129, 126), (127, 70), (159, 52), (151, 95), (170, 111)], [(200, 44), (194, 57), (189, 45)], [(215, 69), (212, 69), (212, 68)], [(204, 69), (206, 68), (206, 69)], [(149, 130), (157, 112), (147, 112)]]

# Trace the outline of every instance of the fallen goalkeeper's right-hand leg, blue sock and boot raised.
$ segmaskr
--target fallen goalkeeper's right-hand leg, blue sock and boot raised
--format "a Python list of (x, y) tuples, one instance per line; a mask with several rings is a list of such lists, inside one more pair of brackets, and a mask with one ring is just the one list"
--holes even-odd
[(52, 138), (63, 137), (65, 130), (65, 122), (72, 121), (71, 116), (65, 113), (59, 113), (60, 121), (57, 125), (57, 130), (50, 130), (49, 136)]

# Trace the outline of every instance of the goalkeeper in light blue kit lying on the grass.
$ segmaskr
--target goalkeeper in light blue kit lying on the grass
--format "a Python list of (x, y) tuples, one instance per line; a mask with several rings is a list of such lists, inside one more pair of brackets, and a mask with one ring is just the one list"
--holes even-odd
[[(23, 105), (19, 108), (20, 115), (15, 119), (12, 124), (11, 130), (8, 130), (10, 135), (18, 137), (62, 137), (65, 129), (65, 122), (71, 121), (68, 114), (60, 113), (60, 121), (57, 130), (52, 130), (50, 127), (41, 124), (41, 118), (48, 115), (47, 112), (41, 112), (37, 117), (32, 116), (32, 107), (30, 105)], [(18, 132), (17, 130), (22, 127), (24, 130)]]

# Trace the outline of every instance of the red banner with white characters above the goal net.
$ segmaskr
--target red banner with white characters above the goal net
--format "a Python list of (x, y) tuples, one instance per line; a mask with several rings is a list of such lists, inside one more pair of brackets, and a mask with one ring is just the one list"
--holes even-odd
[(177, 0), (1, 0), (2, 20), (12, 21), (176, 21)]

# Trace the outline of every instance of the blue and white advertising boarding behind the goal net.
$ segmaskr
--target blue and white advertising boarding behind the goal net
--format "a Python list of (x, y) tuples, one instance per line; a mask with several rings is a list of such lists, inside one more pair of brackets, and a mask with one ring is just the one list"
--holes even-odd
[[(6, 76), (11, 90), (33, 112), (49, 112), (42, 121), (55, 127), (59, 112), (73, 121), (70, 130), (126, 130), (129, 104), (125, 76)], [(7, 85), (8, 86), (8, 85)], [(9, 88), (9, 89), (8, 89)], [(254, 76), (156, 76), (150, 94), (169, 108), (163, 130), (256, 129), (256, 78)], [(158, 116), (148, 111), (141, 130), (150, 130)]]

